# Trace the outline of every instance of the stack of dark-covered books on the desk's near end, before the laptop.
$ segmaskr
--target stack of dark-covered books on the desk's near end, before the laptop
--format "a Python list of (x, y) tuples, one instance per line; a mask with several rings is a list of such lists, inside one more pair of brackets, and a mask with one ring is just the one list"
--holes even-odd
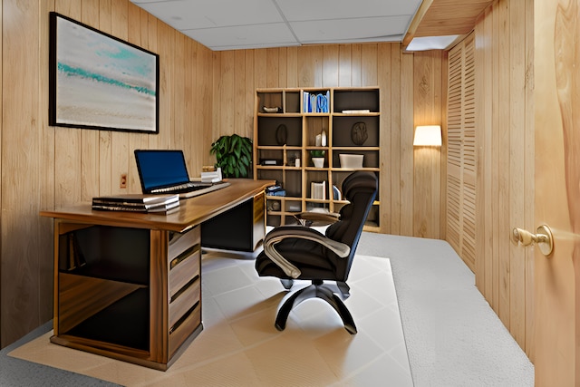
[(92, 198), (92, 209), (131, 212), (169, 212), (179, 208), (179, 194), (124, 194)]

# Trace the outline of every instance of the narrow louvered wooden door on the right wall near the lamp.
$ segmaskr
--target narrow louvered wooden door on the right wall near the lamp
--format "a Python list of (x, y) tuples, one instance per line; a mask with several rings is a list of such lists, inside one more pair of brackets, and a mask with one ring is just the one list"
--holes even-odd
[(475, 270), (475, 42), (449, 51), (447, 240)]

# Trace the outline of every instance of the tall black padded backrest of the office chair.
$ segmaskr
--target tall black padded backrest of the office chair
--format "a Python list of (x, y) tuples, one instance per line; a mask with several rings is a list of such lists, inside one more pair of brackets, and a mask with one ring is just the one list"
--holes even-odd
[(377, 190), (377, 178), (372, 172), (359, 170), (343, 181), (343, 198), (350, 203), (341, 208), (340, 220), (326, 228), (326, 237), (351, 247), (350, 255), (337, 261), (337, 264), (341, 266), (337, 272), (342, 272), (343, 281), (346, 281), (351, 270), (362, 227), (369, 215)]

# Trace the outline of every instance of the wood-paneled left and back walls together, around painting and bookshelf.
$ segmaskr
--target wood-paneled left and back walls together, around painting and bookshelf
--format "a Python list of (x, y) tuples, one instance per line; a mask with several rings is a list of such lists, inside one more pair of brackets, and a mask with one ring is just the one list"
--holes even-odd
[[(440, 237), (441, 155), (413, 150), (416, 124), (440, 123), (442, 53), (401, 44), (319, 45), (211, 52), (128, 0), (0, 0), (0, 343), (53, 315), (53, 237), (43, 208), (114, 194), (121, 174), (139, 192), (132, 151), (185, 150), (192, 175), (213, 163), (221, 134), (251, 137), (259, 87), (381, 87), (381, 231)], [(48, 126), (49, 12), (160, 54), (160, 134)], [(434, 172), (434, 173), (433, 173)]]

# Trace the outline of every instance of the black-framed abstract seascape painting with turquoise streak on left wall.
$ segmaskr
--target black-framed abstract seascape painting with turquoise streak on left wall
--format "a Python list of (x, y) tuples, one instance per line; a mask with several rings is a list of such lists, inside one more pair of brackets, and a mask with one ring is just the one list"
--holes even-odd
[(159, 55), (50, 15), (49, 123), (159, 132)]

